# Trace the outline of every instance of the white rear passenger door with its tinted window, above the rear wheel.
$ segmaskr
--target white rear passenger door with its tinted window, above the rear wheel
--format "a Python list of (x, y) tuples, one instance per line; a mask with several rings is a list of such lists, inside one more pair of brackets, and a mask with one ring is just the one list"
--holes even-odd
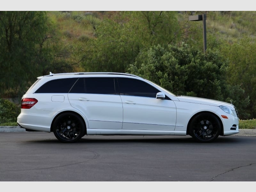
[(68, 99), (86, 116), (89, 129), (122, 129), (123, 106), (114, 78), (79, 78)]

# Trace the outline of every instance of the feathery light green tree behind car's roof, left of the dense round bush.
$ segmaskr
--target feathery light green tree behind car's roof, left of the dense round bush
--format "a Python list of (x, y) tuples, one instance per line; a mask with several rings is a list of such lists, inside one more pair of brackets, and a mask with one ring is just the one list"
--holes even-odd
[[(118, 12), (95, 25), (96, 37), (86, 43), (82, 65), (86, 71), (125, 72), (149, 46), (176, 40), (177, 12)], [(85, 47), (85, 48), (86, 48)]]

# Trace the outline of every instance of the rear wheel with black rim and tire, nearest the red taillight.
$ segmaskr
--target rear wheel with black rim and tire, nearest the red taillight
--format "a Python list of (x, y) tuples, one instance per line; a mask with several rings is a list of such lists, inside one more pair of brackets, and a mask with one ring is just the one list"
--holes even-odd
[(52, 130), (55, 137), (61, 142), (73, 143), (84, 136), (85, 125), (80, 116), (67, 112), (55, 119)]

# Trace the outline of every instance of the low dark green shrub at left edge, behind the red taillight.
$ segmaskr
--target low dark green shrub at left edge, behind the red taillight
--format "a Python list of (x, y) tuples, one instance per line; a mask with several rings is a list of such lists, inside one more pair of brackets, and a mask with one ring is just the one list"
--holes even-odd
[(0, 99), (0, 124), (16, 122), (20, 108), (9, 100)]

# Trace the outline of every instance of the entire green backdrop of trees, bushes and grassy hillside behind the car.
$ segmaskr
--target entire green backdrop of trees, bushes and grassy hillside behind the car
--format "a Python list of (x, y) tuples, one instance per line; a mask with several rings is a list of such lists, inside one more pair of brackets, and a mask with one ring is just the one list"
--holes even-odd
[[(205, 55), (192, 14), (207, 15)], [(244, 11), (1, 11), (0, 96), (21, 97), (50, 71), (126, 72), (133, 64), (129, 71), (157, 75), (177, 94), (232, 101), (240, 118), (255, 118), (255, 19)]]

